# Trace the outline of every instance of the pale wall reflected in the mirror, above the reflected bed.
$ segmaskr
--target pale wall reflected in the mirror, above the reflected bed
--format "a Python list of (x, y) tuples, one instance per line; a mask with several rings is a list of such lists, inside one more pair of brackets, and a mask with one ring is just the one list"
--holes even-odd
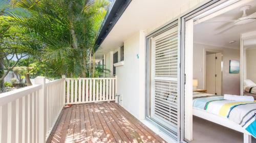
[(256, 49), (246, 50), (246, 78), (256, 83)]

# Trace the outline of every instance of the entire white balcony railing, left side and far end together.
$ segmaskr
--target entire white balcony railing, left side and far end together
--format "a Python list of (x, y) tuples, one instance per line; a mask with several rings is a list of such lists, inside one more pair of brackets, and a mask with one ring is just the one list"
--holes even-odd
[(114, 101), (117, 78), (66, 78), (0, 94), (0, 143), (45, 142), (65, 104)]

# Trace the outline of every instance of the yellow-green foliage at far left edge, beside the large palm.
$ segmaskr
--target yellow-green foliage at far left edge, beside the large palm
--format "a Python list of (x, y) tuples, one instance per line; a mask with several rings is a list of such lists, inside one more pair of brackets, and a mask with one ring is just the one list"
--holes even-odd
[[(0, 11), (0, 90), (3, 90), (4, 78), (8, 72), (17, 65), (20, 59), (28, 54), (36, 53), (35, 50), (41, 47), (41, 44), (35, 36), (30, 35), (27, 28), (21, 27), (15, 20), (13, 14), (18, 14), (19, 10), (10, 8), (8, 1), (0, 1)], [(13, 58), (16, 61), (9, 66), (8, 63)]]

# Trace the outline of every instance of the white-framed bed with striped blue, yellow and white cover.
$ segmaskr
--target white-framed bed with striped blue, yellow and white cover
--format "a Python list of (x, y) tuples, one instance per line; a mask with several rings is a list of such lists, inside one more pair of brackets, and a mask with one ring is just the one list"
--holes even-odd
[(224, 100), (223, 96), (193, 93), (193, 115), (244, 133), (244, 142), (256, 136), (256, 101)]

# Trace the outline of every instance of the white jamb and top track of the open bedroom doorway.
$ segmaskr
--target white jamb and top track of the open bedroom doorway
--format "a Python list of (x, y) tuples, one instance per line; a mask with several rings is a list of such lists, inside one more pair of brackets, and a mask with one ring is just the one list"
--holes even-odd
[[(187, 73), (185, 72), (185, 67), (187, 69), (187, 67), (189, 67), (189, 69), (187, 69), (187, 71), (193, 71), (193, 66), (185, 66), (188, 65), (188, 62), (186, 62), (187, 58), (190, 58), (190, 61), (193, 61), (193, 44), (188, 46), (188, 48), (186, 48), (185, 46), (187, 46), (187, 43), (191, 44), (191, 41), (193, 41), (193, 29), (191, 29), (191, 27), (193, 27), (195, 21), (197, 22), (202, 22), (203, 20), (206, 20), (207, 18), (214, 17), (217, 16), (221, 13), (227, 12), (229, 11), (231, 8), (236, 7), (237, 5), (240, 6), (240, 4), (242, 3), (248, 3), (250, 2), (250, 0), (223, 0), (223, 1), (218, 1), (218, 0), (214, 0), (214, 1), (210, 1), (208, 3), (206, 3), (205, 5), (196, 8), (194, 10), (191, 10), (190, 12), (188, 12), (187, 14), (181, 16), (179, 18), (179, 23), (180, 23), (180, 48), (181, 48), (181, 79), (180, 79), (180, 83), (181, 87), (180, 87), (180, 135), (179, 135), (179, 140), (180, 142), (189, 142), (190, 140), (193, 139), (193, 105), (192, 105), (192, 100), (189, 99), (193, 99), (193, 91), (189, 88), (189, 87), (193, 87), (193, 74), (189, 73), (187, 76)], [(200, 19), (201, 18), (201, 19)], [(190, 23), (189, 23), (190, 20)], [(193, 22), (191, 22), (193, 21)], [(189, 23), (189, 25), (186, 25), (187, 23)], [(190, 49), (189, 49), (190, 48)], [(185, 57), (186, 54), (186, 57)], [(191, 64), (191, 63), (189, 63)], [(193, 62), (192, 62), (193, 65)], [(192, 75), (192, 76), (191, 76)], [(190, 79), (191, 78), (191, 79)], [(185, 93), (185, 89), (188, 88), (188, 92)], [(186, 97), (185, 100), (185, 96), (189, 95), (190, 97)], [(189, 100), (189, 101), (188, 101)], [(188, 103), (189, 107), (185, 107), (185, 103)], [(187, 105), (186, 105), (187, 106)], [(186, 115), (185, 115), (185, 110), (187, 111)], [(186, 129), (185, 129), (185, 116), (186, 116), (186, 120), (188, 122), (188, 124), (186, 124)], [(185, 130), (188, 132), (188, 139), (185, 138)]]

